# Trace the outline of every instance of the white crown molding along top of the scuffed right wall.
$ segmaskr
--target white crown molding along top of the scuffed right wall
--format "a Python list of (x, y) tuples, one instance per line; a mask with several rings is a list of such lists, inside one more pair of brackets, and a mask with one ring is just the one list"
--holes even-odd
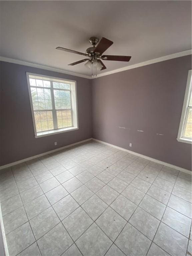
[[(159, 57), (159, 58), (156, 58), (156, 59), (147, 60), (147, 61), (140, 62), (140, 63), (137, 63), (137, 64), (129, 65), (129, 66), (126, 66), (126, 67), (123, 67), (123, 68), (118, 68), (118, 69), (114, 69), (114, 70), (111, 70), (111, 71), (108, 71), (108, 72), (104, 72), (102, 74), (98, 74), (97, 77), (107, 76), (107, 75), (122, 72), (122, 71), (125, 71), (125, 70), (138, 68), (138, 67), (150, 65), (150, 64), (153, 64), (153, 63), (157, 63), (157, 62), (161, 62), (161, 61), (165, 61), (165, 60), (170, 60), (170, 59), (174, 59), (174, 58), (178, 58), (178, 57), (183, 57), (183, 56), (191, 55), (191, 54), (192, 54), (192, 50), (177, 52), (177, 53), (169, 54), (169, 55)], [(93, 79), (94, 78), (96, 78), (96, 76), (93, 76)]]

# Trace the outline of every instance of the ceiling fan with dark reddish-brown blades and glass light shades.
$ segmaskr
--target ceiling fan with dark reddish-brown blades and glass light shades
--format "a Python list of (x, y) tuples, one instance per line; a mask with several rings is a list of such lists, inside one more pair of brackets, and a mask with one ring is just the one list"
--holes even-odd
[(96, 68), (96, 70), (106, 69), (106, 66), (103, 64), (101, 60), (115, 60), (128, 62), (131, 59), (131, 56), (102, 55), (113, 44), (112, 41), (106, 39), (105, 37), (102, 37), (100, 41), (97, 37), (90, 37), (89, 42), (92, 44), (92, 47), (87, 48), (86, 53), (77, 52), (63, 47), (57, 47), (56, 49), (88, 57), (87, 59), (79, 60), (71, 64), (68, 64), (69, 66), (74, 66), (76, 64), (87, 61), (85, 63), (85, 66), (87, 68), (94, 67)]

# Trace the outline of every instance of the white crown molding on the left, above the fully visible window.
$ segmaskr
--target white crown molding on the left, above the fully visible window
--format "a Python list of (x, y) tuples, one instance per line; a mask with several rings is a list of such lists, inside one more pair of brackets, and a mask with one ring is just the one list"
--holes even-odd
[(67, 74), (67, 75), (79, 76), (79, 77), (83, 77), (83, 78), (92, 79), (91, 76), (86, 76), (86, 75), (82, 75), (82, 74), (79, 74), (79, 73), (70, 72), (70, 71), (67, 71), (67, 70), (64, 70), (64, 69), (53, 68), (53, 67), (49, 67), (49, 66), (43, 66), (43, 65), (40, 65), (40, 64), (32, 63), (32, 62), (26, 62), (26, 61), (22, 61), (22, 60), (15, 60), (15, 59), (10, 59), (10, 58), (6, 58), (6, 57), (2, 57), (2, 56), (0, 56), (0, 61), (10, 62), (10, 63), (24, 65), (24, 66), (28, 66), (28, 67), (40, 68), (40, 69), (50, 70), (50, 71), (63, 73), (63, 74)]

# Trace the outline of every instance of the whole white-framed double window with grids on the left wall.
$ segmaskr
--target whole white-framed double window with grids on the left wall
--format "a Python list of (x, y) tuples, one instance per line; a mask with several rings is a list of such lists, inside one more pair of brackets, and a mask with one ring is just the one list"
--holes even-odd
[(78, 129), (76, 82), (27, 73), (35, 137)]

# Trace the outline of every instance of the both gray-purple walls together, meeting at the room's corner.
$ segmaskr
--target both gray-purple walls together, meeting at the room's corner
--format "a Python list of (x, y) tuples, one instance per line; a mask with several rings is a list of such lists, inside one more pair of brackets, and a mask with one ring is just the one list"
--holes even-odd
[[(0, 65), (0, 165), (93, 137), (191, 170), (191, 145), (176, 140), (191, 56), (93, 80), (8, 62)], [(26, 72), (77, 81), (79, 130), (34, 137)]]

